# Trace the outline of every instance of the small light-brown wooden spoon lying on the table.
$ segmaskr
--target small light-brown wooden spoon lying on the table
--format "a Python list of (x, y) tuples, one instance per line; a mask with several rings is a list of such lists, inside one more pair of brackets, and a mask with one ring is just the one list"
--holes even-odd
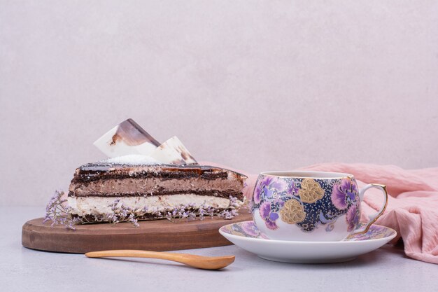
[(160, 258), (162, 260), (172, 260), (174, 262), (190, 265), (204, 270), (219, 270), (222, 267), (231, 265), (235, 256), (196, 256), (188, 253), (165, 253), (158, 251), (137, 251), (120, 249), (114, 251), (91, 251), (85, 253), (89, 258), (104, 257), (125, 257), (125, 258)]

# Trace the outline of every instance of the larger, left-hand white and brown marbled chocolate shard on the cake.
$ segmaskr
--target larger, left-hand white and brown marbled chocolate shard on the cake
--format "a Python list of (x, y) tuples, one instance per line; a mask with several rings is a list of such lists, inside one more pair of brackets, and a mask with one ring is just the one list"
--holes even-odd
[(109, 158), (115, 158), (132, 154), (150, 155), (160, 142), (129, 118), (106, 132), (93, 144)]

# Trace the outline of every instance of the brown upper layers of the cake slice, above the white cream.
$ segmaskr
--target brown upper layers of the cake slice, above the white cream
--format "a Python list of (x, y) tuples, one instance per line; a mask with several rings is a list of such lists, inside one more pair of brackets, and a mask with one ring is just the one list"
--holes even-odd
[(115, 165), (98, 162), (76, 169), (69, 196), (149, 196), (194, 193), (243, 198), (246, 176), (201, 165)]

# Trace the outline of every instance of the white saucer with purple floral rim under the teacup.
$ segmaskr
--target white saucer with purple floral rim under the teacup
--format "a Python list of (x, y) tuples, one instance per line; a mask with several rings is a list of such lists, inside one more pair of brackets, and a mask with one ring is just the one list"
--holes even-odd
[(391, 228), (372, 225), (362, 235), (352, 235), (340, 242), (294, 242), (264, 237), (254, 221), (222, 226), (222, 236), (236, 246), (266, 260), (285, 263), (339, 263), (353, 260), (388, 243), (397, 235)]

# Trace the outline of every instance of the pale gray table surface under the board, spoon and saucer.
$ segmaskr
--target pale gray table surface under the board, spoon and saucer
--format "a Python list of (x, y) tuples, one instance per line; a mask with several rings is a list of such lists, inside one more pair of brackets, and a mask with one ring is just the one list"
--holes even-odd
[(271, 262), (237, 246), (181, 251), (235, 255), (220, 271), (26, 249), (22, 225), (43, 212), (44, 207), (0, 207), (1, 291), (438, 291), (438, 265), (407, 258), (400, 246), (389, 244), (351, 262), (324, 265)]

